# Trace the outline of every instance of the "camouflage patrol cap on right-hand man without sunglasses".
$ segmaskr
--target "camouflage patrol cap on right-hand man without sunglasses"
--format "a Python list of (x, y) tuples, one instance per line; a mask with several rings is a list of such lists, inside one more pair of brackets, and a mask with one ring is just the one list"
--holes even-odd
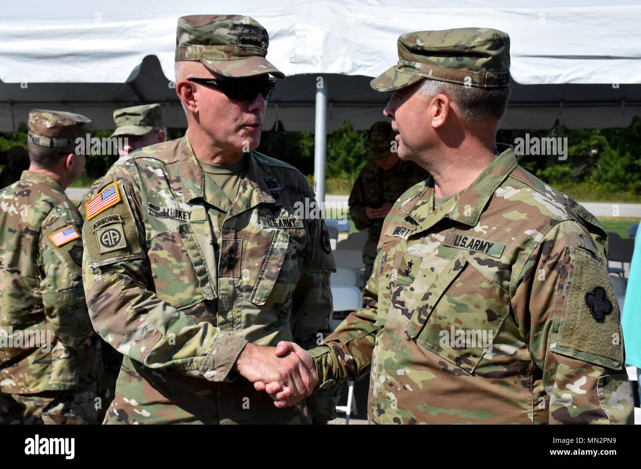
[(510, 85), (510, 37), (490, 28), (417, 31), (399, 36), (399, 62), (370, 86), (388, 92), (431, 78), (479, 88)]

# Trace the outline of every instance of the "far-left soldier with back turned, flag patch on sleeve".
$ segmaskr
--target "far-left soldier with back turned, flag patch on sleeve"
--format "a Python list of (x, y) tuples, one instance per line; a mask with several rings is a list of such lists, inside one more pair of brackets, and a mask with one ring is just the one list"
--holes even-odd
[(3, 424), (97, 423), (102, 365), (82, 287), (82, 217), (64, 192), (85, 166), (74, 146), (90, 123), (78, 114), (31, 111), (31, 165), (0, 190)]

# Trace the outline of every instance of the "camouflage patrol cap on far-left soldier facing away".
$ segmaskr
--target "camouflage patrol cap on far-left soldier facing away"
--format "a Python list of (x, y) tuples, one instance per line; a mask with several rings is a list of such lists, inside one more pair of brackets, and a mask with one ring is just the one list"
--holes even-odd
[(64, 111), (34, 109), (29, 112), (28, 141), (42, 147), (66, 149), (91, 131), (87, 117)]

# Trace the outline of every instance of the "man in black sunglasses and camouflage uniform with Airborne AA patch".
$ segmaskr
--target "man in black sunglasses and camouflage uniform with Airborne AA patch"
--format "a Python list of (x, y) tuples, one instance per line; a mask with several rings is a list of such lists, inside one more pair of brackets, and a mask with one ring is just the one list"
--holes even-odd
[(188, 131), (113, 165), (86, 206), (88, 308), (124, 354), (106, 424), (333, 418), (333, 394), (278, 408), (252, 384), (276, 377), (292, 399), (311, 393), (313, 361), (268, 346), (320, 343), (335, 268), (324, 222), (301, 215), (313, 201), (305, 177), (253, 151), (267, 74), (284, 78), (265, 60), (268, 44), (250, 17), (180, 18)]

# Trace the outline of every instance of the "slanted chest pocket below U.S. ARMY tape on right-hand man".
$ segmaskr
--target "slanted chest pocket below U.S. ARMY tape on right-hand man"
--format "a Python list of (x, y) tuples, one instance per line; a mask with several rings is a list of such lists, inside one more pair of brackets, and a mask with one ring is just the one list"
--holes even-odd
[(417, 306), (405, 333), (473, 373), (510, 313), (510, 293), (481, 275), (464, 253), (449, 261), (426, 289), (414, 288), (421, 291), (407, 292), (406, 305)]

